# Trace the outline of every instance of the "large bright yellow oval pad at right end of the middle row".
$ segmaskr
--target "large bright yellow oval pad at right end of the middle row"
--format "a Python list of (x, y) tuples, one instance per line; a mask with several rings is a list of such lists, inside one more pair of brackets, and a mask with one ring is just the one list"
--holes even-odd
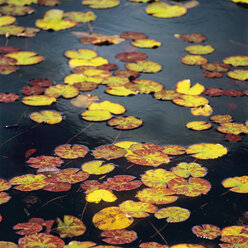
[(200, 143), (189, 146), (186, 152), (198, 159), (216, 159), (227, 154), (227, 148), (221, 144)]

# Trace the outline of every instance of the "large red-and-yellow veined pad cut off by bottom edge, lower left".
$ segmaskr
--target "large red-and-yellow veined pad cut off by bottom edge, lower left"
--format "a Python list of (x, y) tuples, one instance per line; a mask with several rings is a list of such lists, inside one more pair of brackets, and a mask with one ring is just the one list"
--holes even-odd
[(62, 239), (45, 233), (31, 234), (20, 238), (18, 245), (21, 248), (35, 248), (35, 247), (46, 247), (46, 248), (63, 248), (65, 243)]

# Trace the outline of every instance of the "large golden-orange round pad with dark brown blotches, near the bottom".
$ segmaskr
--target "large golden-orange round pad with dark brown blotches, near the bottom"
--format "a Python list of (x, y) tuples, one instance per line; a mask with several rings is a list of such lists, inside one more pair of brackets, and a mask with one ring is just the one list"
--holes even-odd
[(129, 227), (133, 218), (127, 217), (118, 207), (107, 207), (96, 213), (92, 221), (95, 227), (106, 231)]

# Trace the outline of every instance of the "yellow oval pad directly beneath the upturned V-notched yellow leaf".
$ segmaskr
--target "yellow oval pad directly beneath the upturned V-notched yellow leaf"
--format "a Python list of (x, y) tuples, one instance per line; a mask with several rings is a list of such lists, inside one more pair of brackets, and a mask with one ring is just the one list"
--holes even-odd
[(203, 96), (180, 95), (178, 98), (173, 98), (172, 102), (180, 106), (193, 108), (208, 104), (208, 99)]

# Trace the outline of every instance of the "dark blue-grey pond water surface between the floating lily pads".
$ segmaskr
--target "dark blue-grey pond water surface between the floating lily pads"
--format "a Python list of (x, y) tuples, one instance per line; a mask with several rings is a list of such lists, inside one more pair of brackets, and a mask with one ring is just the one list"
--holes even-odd
[[(120, 52), (130, 51), (130, 49), (145, 52), (148, 59), (156, 61), (163, 66), (163, 70), (157, 74), (142, 74), (140, 78), (151, 79), (160, 82), (165, 89), (174, 89), (177, 81), (189, 78), (192, 83), (199, 82), (205, 88), (222, 88), (246, 90), (247, 82), (235, 81), (224, 76), (221, 79), (207, 79), (203, 76), (203, 70), (199, 66), (186, 66), (180, 62), (180, 58), (186, 55), (184, 47), (189, 45), (180, 39), (176, 39), (174, 34), (179, 33), (203, 33), (208, 40), (204, 44), (212, 45), (215, 52), (206, 57), (210, 62), (221, 62), (222, 59), (234, 55), (248, 55), (248, 9), (242, 8), (229, 0), (205, 1), (199, 0), (199, 5), (189, 9), (187, 15), (175, 19), (158, 19), (145, 14), (146, 4), (135, 4), (122, 0), (121, 5), (106, 10), (93, 10), (97, 15), (97, 20), (91, 25), (95, 33), (107, 35), (120, 35), (123, 31), (144, 32), (149, 38), (162, 42), (158, 49), (135, 49), (130, 45), (130, 41), (122, 42), (118, 45), (96, 47), (99, 56), (105, 57), (110, 63), (118, 65), (119, 69), (124, 69), (124, 63), (118, 61), (115, 55)], [(34, 22), (40, 18), (49, 8), (34, 6), (36, 13), (30, 16), (18, 17), (19, 25), (34, 27)], [(88, 11), (86, 6), (81, 5), (81, 1), (63, 1), (57, 8), (64, 11)], [(28, 39), (28, 49), (44, 56), (45, 60), (34, 66), (21, 66), (20, 69), (11, 75), (0, 76), (0, 92), (15, 92), (21, 94), (21, 89), (33, 78), (48, 78), (55, 83), (63, 83), (65, 76), (70, 74), (71, 69), (67, 65), (68, 59), (63, 56), (66, 50), (89, 48), (92, 45), (85, 45), (79, 42), (72, 32), (89, 31), (87, 24), (79, 24), (77, 27), (59, 32), (41, 31), (36, 37)], [(5, 44), (5, 38), (0, 38), (0, 44)], [(11, 37), (9, 45), (17, 46), (25, 50), (26, 40)], [(211, 185), (211, 191), (205, 196), (197, 198), (180, 197), (171, 206), (181, 206), (191, 211), (191, 217), (182, 223), (168, 224), (161, 234), (169, 245), (187, 242), (203, 244), (206, 247), (218, 247), (218, 239), (205, 241), (191, 232), (191, 228), (197, 224), (215, 224), (221, 228), (229, 225), (248, 224), (244, 219), (247, 209), (247, 194), (229, 192), (223, 194), (227, 189), (223, 188), (223, 179), (234, 176), (247, 175), (248, 146), (247, 136), (238, 143), (225, 141), (224, 134), (216, 132), (216, 126), (207, 131), (191, 131), (185, 124), (193, 120), (207, 120), (207, 117), (196, 117), (190, 113), (189, 108), (174, 105), (170, 101), (158, 101), (151, 95), (136, 95), (131, 97), (117, 97), (104, 93), (105, 87), (90, 92), (97, 95), (101, 100), (109, 100), (120, 103), (126, 107), (125, 115), (134, 115), (144, 121), (141, 128), (123, 131), (118, 141), (138, 141), (151, 142), (159, 145), (178, 144), (188, 146), (195, 143), (220, 143), (229, 150), (228, 154), (216, 160), (201, 160), (198, 162), (208, 168), (205, 179)], [(213, 114), (230, 114), (235, 122), (243, 123), (248, 119), (247, 97), (209, 97), (210, 105), (213, 107)], [(230, 106), (236, 106), (234, 109)], [(0, 104), (0, 126), (12, 125), (17, 122), (24, 112), (24, 117), (16, 128), (1, 128), (1, 143), (12, 136), (29, 130), (35, 123), (30, 120), (29, 115), (34, 111), (43, 109), (54, 109), (65, 116), (65, 119), (57, 125), (39, 125), (30, 129), (23, 135), (16, 137), (10, 142), (1, 146), (0, 150), (0, 178), (11, 179), (15, 176), (35, 173), (25, 163), (25, 151), (36, 148), (38, 155), (53, 155), (55, 147), (67, 142), (73, 135), (78, 133), (89, 123), (80, 119), (80, 113), (84, 108), (73, 106), (69, 100), (58, 99), (56, 104), (49, 107), (28, 107), (20, 101), (9, 104)], [(106, 125), (106, 122), (95, 123), (81, 135), (73, 139), (73, 144), (82, 144), (90, 150), (99, 145), (111, 144), (118, 130)], [(68, 167), (80, 168), (85, 161), (93, 159), (88, 154), (84, 159), (73, 161)], [(170, 169), (179, 162), (192, 162), (194, 159), (189, 156), (178, 156), (171, 159), (171, 162), (162, 166)], [(108, 177), (116, 175), (130, 165), (125, 159), (113, 161), (118, 168), (108, 174)], [(66, 168), (66, 167), (65, 167)], [(135, 166), (127, 170), (128, 175), (137, 176), (147, 169), (142, 166)], [(97, 177), (90, 177), (97, 179)], [(7, 204), (0, 206), (0, 213), (3, 221), (0, 223), (0, 240), (17, 242), (19, 235), (12, 231), (12, 226), (28, 221), (32, 217), (42, 217), (44, 219), (55, 219), (63, 215), (80, 216), (84, 205), (84, 193), (78, 193), (79, 184), (72, 187), (69, 192), (52, 193), (45, 191), (34, 191), (31, 193), (10, 190), (12, 199)], [(114, 203), (88, 204), (83, 221), (87, 225), (86, 233), (73, 240), (89, 240), (98, 244), (104, 244), (100, 238), (100, 231), (92, 224), (92, 216), (107, 206), (118, 206), (127, 199), (135, 199), (136, 191), (120, 192), (116, 195), (118, 200)], [(223, 195), (222, 195), (223, 194)], [(48, 200), (58, 196), (66, 197), (42, 205)], [(35, 204), (27, 204), (24, 199), (37, 196)], [(208, 203), (207, 205), (205, 205)], [(165, 207), (165, 206), (161, 206)], [(156, 241), (163, 243), (152, 225), (157, 229), (163, 227), (165, 220), (157, 220), (154, 216), (145, 219), (136, 219), (129, 227), (138, 234), (138, 239), (123, 247), (138, 247), (141, 242)], [(68, 243), (70, 239), (66, 239)]]

